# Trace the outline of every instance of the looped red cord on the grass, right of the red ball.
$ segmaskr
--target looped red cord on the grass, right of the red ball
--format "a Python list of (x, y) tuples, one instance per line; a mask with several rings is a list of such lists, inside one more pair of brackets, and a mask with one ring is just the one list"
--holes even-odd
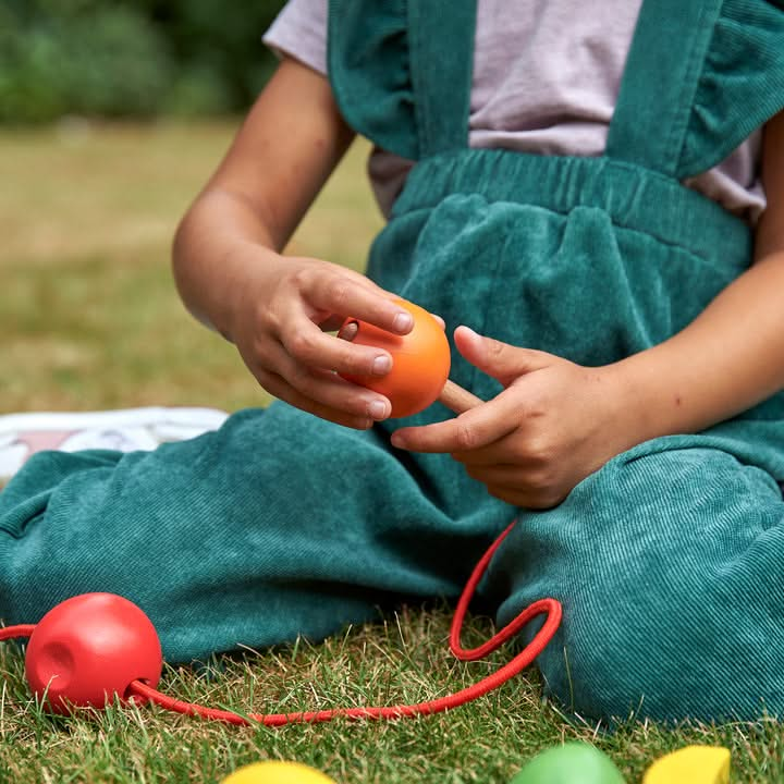
[(493, 635), (490, 640), (478, 648), (464, 650), (460, 645), (460, 633), (463, 627), (463, 620), (468, 609), (468, 604), (474, 596), (474, 591), (485, 574), (485, 569), (490, 563), (490, 559), (492, 559), (493, 553), (498, 550), (506, 535), (512, 530), (513, 526), (514, 523), (512, 523), (512, 525), (510, 525), (506, 530), (504, 530), (492, 543), (490, 549), (485, 553), (482, 559), (474, 568), (468, 583), (466, 583), (466, 587), (463, 589), (463, 593), (457, 602), (454, 620), (452, 621), (450, 648), (458, 659), (464, 661), (479, 659), (480, 657), (495, 650), (502, 642), (517, 634), (525, 624), (537, 615), (547, 614), (547, 618), (530, 644), (526, 646), (526, 648), (516, 657), (514, 657), (512, 661), (468, 688), (461, 689), (455, 694), (446, 695), (445, 697), (441, 697), (437, 700), (418, 702), (417, 705), (409, 706), (400, 705), (388, 708), (335, 708), (332, 710), (307, 711), (301, 713), (249, 713), (247, 718), (240, 715), (238, 713), (232, 713), (231, 711), (205, 708), (204, 706), (195, 705), (193, 702), (184, 702), (182, 700), (174, 699), (173, 697), (168, 697), (140, 681), (134, 681), (128, 687), (128, 696), (136, 695), (144, 697), (150, 700), (150, 702), (159, 705), (161, 708), (166, 708), (167, 710), (172, 710), (177, 713), (184, 713), (186, 715), (198, 715), (203, 719), (215, 719), (230, 724), (249, 725), (261, 723), (267, 726), (280, 726), (282, 724), (291, 724), (295, 722), (326, 722), (331, 719), (335, 719), (336, 716), (345, 716), (347, 719), (401, 719), (403, 716), (439, 713), (451, 708), (457, 708), (466, 702), (470, 702), (478, 697), (482, 697), (488, 691), (492, 691), (494, 688), (498, 688), (510, 678), (523, 672), (523, 670), (525, 670), (539, 656), (539, 653), (544, 650), (544, 647), (548, 642), (550, 642), (561, 623), (560, 602), (555, 599), (541, 599), (523, 610), (523, 612), (519, 613), (519, 615), (517, 615), (517, 617), (515, 617), (510, 624), (504, 626), (504, 628)]

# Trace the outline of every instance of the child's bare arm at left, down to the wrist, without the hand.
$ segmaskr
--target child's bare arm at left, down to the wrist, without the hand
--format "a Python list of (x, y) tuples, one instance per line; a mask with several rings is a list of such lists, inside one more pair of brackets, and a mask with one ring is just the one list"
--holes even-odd
[(277, 252), (353, 138), (327, 78), (284, 60), (177, 229), (174, 275), (199, 320), (231, 339), (237, 301), (280, 269)]

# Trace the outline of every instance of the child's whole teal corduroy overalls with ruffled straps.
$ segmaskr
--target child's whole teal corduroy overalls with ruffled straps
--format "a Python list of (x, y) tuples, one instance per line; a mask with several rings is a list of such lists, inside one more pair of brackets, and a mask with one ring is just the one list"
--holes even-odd
[[(584, 365), (660, 343), (750, 264), (748, 226), (681, 181), (784, 106), (784, 5), (646, 0), (596, 158), (468, 148), (475, 13), (330, 3), (341, 110), (417, 161), (368, 273), (450, 329)], [(499, 391), (456, 352), (452, 377)], [(391, 448), (400, 424), (358, 432), (275, 403), (152, 453), (38, 454), (0, 493), (0, 617), (100, 590), (150, 615), (170, 661), (320, 638), (454, 598), (516, 517), (481, 598), (501, 623), (563, 603), (538, 664), (567, 708), (784, 714), (783, 395), (639, 444), (544, 512), (489, 497), (446, 455)]]

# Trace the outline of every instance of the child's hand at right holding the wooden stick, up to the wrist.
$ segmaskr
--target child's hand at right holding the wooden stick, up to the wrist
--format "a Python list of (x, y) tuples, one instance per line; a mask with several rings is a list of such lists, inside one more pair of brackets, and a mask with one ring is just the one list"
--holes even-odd
[(583, 367), (466, 327), (455, 331), (455, 342), (468, 362), (505, 389), (455, 419), (397, 430), (394, 446), (449, 453), (491, 495), (549, 509), (636, 443), (614, 366)]

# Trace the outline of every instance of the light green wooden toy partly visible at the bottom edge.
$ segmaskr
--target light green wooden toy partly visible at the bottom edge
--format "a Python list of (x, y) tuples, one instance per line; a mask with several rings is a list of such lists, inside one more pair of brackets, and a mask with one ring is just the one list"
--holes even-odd
[(598, 748), (572, 742), (537, 755), (511, 784), (624, 784), (624, 777)]

